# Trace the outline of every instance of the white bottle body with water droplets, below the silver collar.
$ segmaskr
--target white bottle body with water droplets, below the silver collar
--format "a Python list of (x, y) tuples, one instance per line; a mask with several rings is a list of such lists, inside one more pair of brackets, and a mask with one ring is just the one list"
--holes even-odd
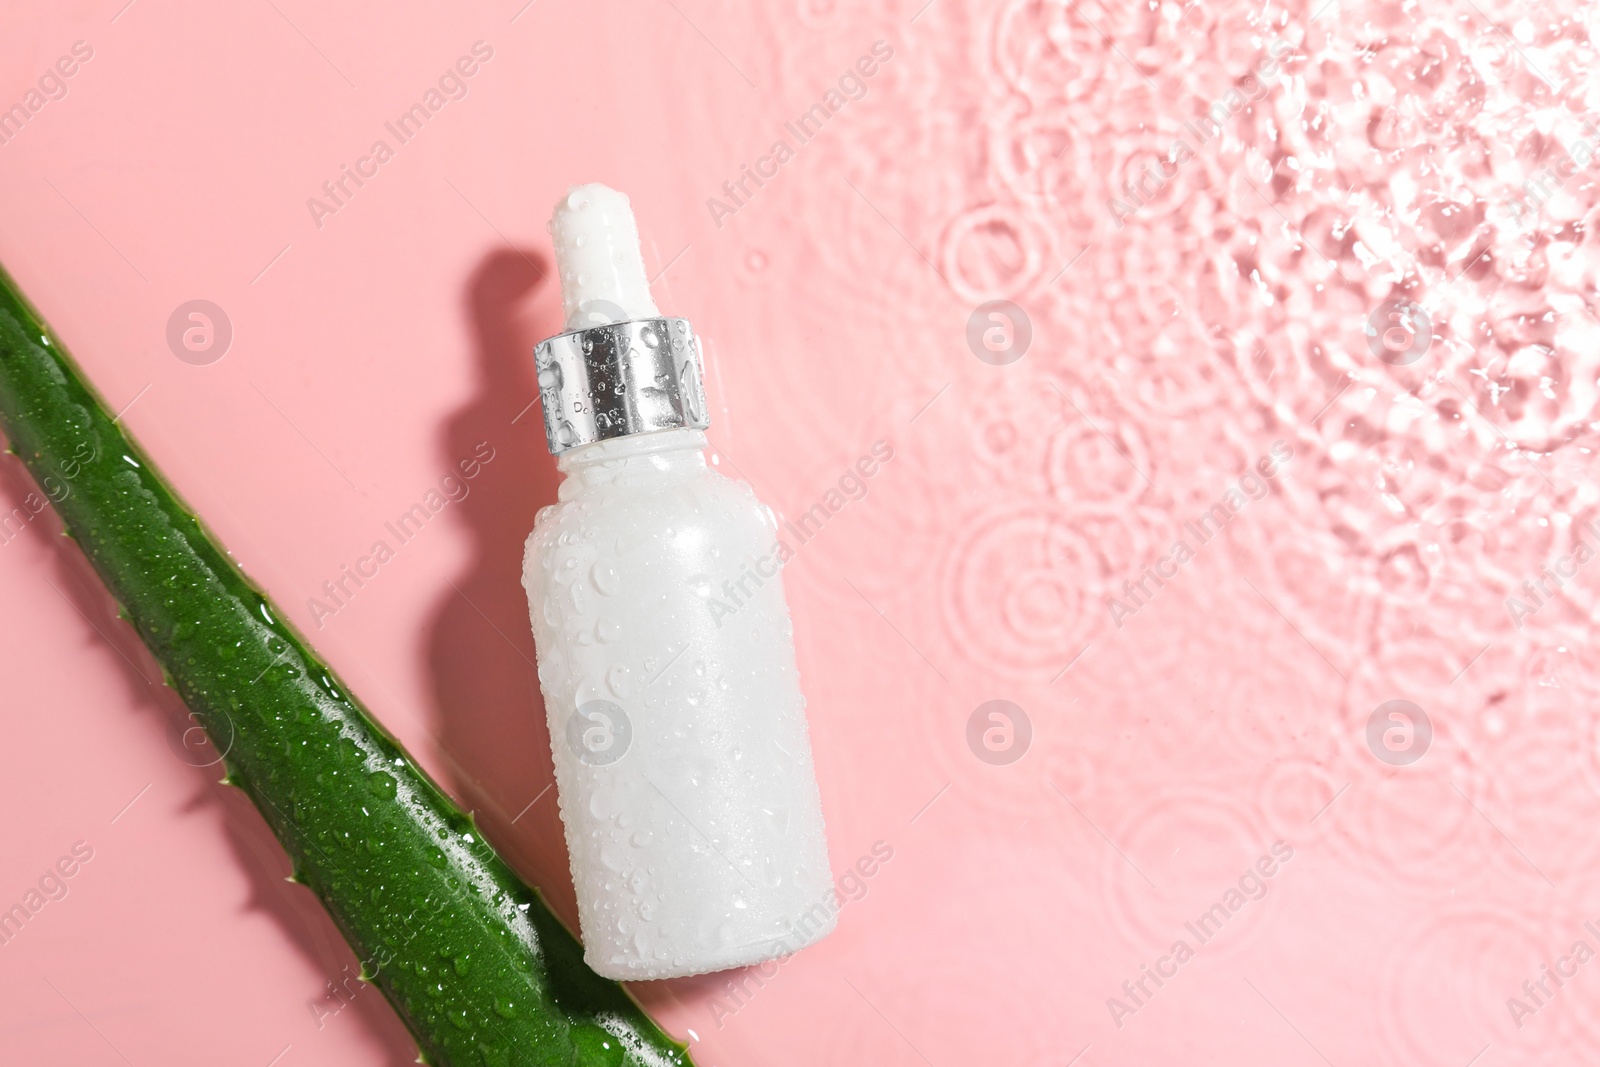
[[(661, 430), (560, 456), (523, 585), (584, 960), (744, 966), (834, 926), (771, 510)], [(768, 566), (766, 569), (773, 569)]]

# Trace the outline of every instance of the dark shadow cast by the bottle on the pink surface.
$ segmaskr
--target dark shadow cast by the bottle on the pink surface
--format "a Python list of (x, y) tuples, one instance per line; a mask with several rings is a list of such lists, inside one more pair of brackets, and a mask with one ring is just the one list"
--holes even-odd
[(533, 346), (558, 333), (536, 322), (530, 296), (549, 278), (531, 251), (499, 248), (474, 270), (466, 307), (477, 344), (472, 400), (445, 427), (445, 461), (493, 448), (451, 510), (472, 533), (472, 563), (429, 627), (427, 657), (440, 715), (438, 753), (456, 797), (518, 873), (578, 929), (566, 840), (555, 805), (550, 736), (534, 665), (523, 542), (555, 502), (562, 475), (544, 445)]

